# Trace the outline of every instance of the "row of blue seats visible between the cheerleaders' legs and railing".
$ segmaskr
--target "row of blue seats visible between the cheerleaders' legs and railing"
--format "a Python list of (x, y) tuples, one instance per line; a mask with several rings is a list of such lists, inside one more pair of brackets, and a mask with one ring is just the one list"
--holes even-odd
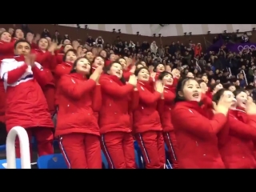
[[(32, 140), (33, 148), (37, 147), (36, 140), (33, 138)], [(58, 147), (58, 140), (54, 140), (54, 146)], [(144, 160), (142, 158), (142, 152), (138, 147), (138, 143), (134, 142), (134, 153), (135, 153), (135, 160), (136, 166), (138, 169), (145, 169)], [(6, 145), (0, 146), (0, 152), (6, 151)], [(43, 155), (38, 158), (37, 161), (38, 169), (67, 169), (66, 162), (62, 156), (62, 154), (49, 154)], [(170, 164), (169, 156), (167, 153), (166, 147), (166, 169), (172, 169)], [(0, 160), (0, 169), (6, 169), (6, 159)], [(16, 169), (22, 169), (21, 166), (21, 159), (16, 158)], [(108, 162), (106, 161), (105, 154), (102, 152), (102, 169), (110, 169)]]

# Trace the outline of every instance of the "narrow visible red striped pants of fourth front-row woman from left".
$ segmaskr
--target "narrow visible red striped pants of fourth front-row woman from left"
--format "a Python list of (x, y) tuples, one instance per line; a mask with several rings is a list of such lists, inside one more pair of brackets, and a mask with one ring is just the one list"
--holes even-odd
[(168, 148), (168, 154), (169, 154), (170, 161), (173, 164), (173, 168), (178, 169), (178, 161), (176, 158), (176, 152), (178, 150), (178, 146), (177, 146), (174, 131), (164, 132), (163, 137), (165, 139), (166, 146)]

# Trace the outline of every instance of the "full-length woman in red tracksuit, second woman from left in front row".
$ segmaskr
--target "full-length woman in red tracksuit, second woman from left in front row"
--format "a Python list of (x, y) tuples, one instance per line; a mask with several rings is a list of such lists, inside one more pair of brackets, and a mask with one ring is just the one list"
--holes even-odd
[(138, 106), (137, 79), (122, 78), (122, 65), (112, 62), (100, 78), (102, 109), (98, 123), (102, 134), (102, 150), (112, 169), (135, 168), (134, 138), (130, 111)]

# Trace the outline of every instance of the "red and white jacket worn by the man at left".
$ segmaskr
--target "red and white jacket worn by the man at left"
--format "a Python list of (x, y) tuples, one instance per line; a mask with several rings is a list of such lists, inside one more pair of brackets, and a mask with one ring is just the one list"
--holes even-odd
[[(23, 57), (2, 60), (1, 78), (6, 85), (6, 130), (24, 128), (53, 128), (46, 98), (40, 86), (50, 80), (38, 63), (27, 66)], [(7, 75), (6, 75), (7, 74)]]

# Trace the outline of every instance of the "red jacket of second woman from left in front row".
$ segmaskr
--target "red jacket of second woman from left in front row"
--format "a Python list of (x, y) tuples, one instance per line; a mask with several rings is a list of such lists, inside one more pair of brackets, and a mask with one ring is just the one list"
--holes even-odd
[(101, 134), (131, 132), (129, 112), (138, 106), (138, 91), (129, 83), (123, 85), (114, 75), (103, 74), (99, 80), (102, 86), (102, 109), (98, 115)]

